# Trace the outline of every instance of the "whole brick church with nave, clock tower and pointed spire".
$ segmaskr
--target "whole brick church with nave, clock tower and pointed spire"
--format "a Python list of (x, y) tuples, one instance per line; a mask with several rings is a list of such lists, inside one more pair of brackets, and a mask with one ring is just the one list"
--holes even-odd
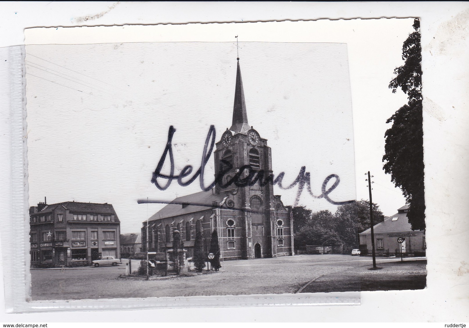
[(175, 198), (172, 204), (144, 221), (144, 252), (164, 256), (164, 252), (172, 248), (172, 232), (177, 229), (187, 249), (186, 256), (191, 257), (196, 231), (200, 229), (206, 253), (212, 232), (217, 230), (220, 259), (294, 255), (292, 207), (285, 206), (280, 196), (273, 194), (272, 183), (257, 181), (252, 186), (229, 183), (236, 175), (259, 174), (264, 175), (260, 180), (265, 180), (272, 174), (267, 139), (248, 124), (239, 58), (237, 60), (232, 125), (222, 134), (214, 151), (215, 177), (221, 171), (224, 172), (220, 175), (222, 179), (212, 190)]

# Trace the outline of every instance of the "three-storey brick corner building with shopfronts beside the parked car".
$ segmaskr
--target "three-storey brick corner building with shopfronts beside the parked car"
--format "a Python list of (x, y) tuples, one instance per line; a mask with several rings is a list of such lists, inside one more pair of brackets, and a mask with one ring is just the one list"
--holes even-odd
[(120, 257), (120, 220), (112, 204), (63, 202), (30, 207), (33, 267), (84, 266)]

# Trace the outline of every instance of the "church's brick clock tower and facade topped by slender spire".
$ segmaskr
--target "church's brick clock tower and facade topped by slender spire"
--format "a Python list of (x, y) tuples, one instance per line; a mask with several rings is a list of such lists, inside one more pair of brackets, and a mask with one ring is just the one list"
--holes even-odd
[[(226, 194), (227, 206), (239, 210), (236, 225), (242, 225), (242, 258), (272, 257), (277, 256), (278, 233), (283, 235), (284, 221), (290, 226), (289, 213), (280, 196), (273, 195), (272, 183), (264, 186), (259, 181), (252, 186), (229, 184), (236, 174), (244, 178), (250, 172), (257, 175), (263, 171), (264, 179), (272, 174), (272, 155), (267, 139), (248, 123), (239, 58), (237, 60), (232, 125), (223, 132), (214, 152), (215, 177), (220, 171), (226, 173), (217, 183), (215, 192)], [(224, 222), (220, 224), (223, 226)], [(280, 242), (283, 246), (283, 240)]]

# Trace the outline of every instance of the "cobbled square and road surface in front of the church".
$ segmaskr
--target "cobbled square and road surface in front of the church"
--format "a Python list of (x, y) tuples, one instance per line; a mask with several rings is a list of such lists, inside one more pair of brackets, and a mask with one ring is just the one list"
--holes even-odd
[[(390, 261), (400, 259), (377, 260), (378, 263)], [(223, 263), (220, 272), (150, 281), (119, 277), (125, 272), (124, 263), (117, 267), (31, 270), (32, 299), (295, 293), (312, 279), (364, 265), (371, 265), (371, 258), (350, 255), (295, 255), (227, 261)], [(132, 269), (136, 270), (136, 266)]]

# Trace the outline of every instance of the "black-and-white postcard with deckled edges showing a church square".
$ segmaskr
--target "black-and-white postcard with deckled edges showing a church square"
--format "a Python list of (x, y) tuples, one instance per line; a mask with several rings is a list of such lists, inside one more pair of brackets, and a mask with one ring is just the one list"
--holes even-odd
[(424, 289), (419, 20), (209, 25), (26, 33), (30, 301)]

